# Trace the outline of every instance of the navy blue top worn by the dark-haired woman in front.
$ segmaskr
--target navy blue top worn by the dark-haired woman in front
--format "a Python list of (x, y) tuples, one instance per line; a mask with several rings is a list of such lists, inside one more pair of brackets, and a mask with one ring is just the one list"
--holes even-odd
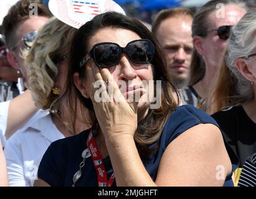
[[(158, 142), (154, 142), (149, 146), (149, 148), (157, 146), (157, 150), (154, 150), (148, 158), (143, 159), (143, 164), (153, 180), (156, 179), (161, 157), (168, 144), (187, 129), (197, 124), (207, 123), (219, 127), (211, 116), (192, 105), (179, 106), (174, 110), (169, 116)], [(40, 162), (38, 177), (51, 186), (71, 187), (73, 175), (77, 172), (80, 162), (83, 160), (81, 154), (87, 148), (86, 141), (89, 132), (90, 129), (76, 136), (60, 139), (50, 144)], [(239, 165), (239, 159), (227, 144), (225, 146), (232, 162), (232, 172), (234, 172)], [(103, 164), (108, 178), (110, 178), (113, 173), (110, 157), (103, 159)], [(232, 172), (225, 179), (224, 186), (234, 186), (231, 178)], [(97, 173), (93, 166), (92, 158), (89, 157), (85, 161), (85, 165), (82, 168), (82, 177), (78, 180), (76, 186), (97, 187), (97, 182)], [(115, 182), (113, 185), (115, 185)]]

